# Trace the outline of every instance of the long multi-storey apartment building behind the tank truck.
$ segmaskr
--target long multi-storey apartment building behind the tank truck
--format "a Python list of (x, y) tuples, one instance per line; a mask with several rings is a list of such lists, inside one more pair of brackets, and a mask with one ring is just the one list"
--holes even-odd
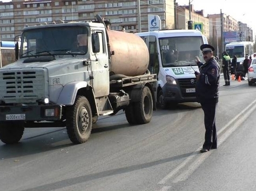
[(13, 40), (25, 26), (90, 21), (96, 14), (113, 30), (148, 31), (148, 14), (160, 17), (162, 29), (174, 28), (174, 0), (12, 0), (0, 1), (0, 38)]

